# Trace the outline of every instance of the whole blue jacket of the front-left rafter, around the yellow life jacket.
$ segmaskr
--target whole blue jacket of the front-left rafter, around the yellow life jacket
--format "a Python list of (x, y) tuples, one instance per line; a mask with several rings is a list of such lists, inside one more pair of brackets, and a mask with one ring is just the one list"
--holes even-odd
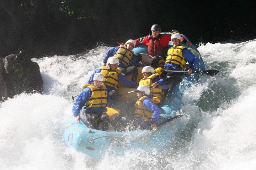
[[(85, 103), (87, 102), (87, 100), (89, 100), (89, 98), (92, 95), (92, 91), (90, 88), (86, 87), (82, 90), (82, 92), (78, 95), (78, 97), (75, 100), (75, 103), (73, 105), (72, 108), (72, 112), (74, 117), (77, 117), (80, 113), (81, 108), (85, 105)], [(107, 95), (107, 101), (110, 98), (109, 95)], [(84, 113), (90, 113), (90, 112), (105, 112), (106, 107), (89, 107), (87, 109), (85, 109)]]

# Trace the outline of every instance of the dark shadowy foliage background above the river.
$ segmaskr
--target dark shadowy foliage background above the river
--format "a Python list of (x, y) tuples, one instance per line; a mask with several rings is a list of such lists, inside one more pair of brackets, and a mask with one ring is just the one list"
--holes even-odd
[[(1, 0), (0, 57), (70, 55), (173, 29), (193, 44), (256, 38), (256, 2), (242, 0)], [(231, 41), (232, 42), (232, 41)]]

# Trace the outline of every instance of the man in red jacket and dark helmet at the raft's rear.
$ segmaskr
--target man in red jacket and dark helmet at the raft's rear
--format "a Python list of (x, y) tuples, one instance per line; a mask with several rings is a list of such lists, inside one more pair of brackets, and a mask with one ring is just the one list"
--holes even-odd
[[(138, 38), (135, 41), (135, 45), (147, 45), (148, 53), (146, 54), (138, 54), (142, 57), (142, 64), (144, 66), (151, 66), (153, 68), (162, 67), (164, 68), (164, 61), (166, 60), (168, 44), (171, 41), (171, 37), (169, 35), (160, 34), (161, 27), (158, 24), (154, 24), (151, 27), (151, 35), (144, 36), (142, 38)], [(185, 42), (188, 46), (192, 46), (190, 41), (187, 41), (182, 36), (182, 42)], [(160, 60), (162, 59), (162, 61)]]

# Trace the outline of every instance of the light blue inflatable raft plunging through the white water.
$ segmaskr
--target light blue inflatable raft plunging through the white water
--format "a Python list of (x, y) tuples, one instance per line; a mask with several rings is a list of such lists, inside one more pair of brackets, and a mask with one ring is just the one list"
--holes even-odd
[[(170, 33), (164, 33), (170, 34)], [(185, 35), (181, 34), (186, 38)], [(187, 38), (186, 38), (187, 39)], [(188, 40), (188, 39), (187, 39)], [(189, 40), (188, 40), (189, 41)], [(187, 46), (182, 43), (182, 45)], [(172, 42), (169, 42), (169, 47)], [(188, 46), (187, 46), (188, 47)], [(188, 47), (193, 55), (198, 58), (197, 71), (205, 70), (205, 65), (196, 47)], [(133, 49), (134, 53), (148, 53), (147, 46), (138, 46)], [(188, 64), (187, 64), (188, 65)], [(148, 154), (161, 152), (166, 147), (175, 145), (176, 138), (181, 131), (180, 109), (182, 96), (191, 84), (197, 83), (200, 74), (181, 74), (182, 82), (176, 83), (167, 95), (167, 100), (162, 104), (158, 129), (136, 130), (136, 131), (101, 131), (89, 129), (84, 123), (78, 123), (73, 116), (66, 120), (67, 129), (63, 137), (66, 145), (73, 147), (76, 151), (83, 152), (94, 158), (102, 158), (105, 154), (124, 155), (141, 149)], [(126, 89), (127, 90), (127, 89)], [(129, 89), (128, 89), (129, 91)], [(119, 93), (119, 94), (122, 94)], [(136, 96), (135, 93), (132, 94)], [(128, 96), (124, 96), (128, 97)], [(108, 108), (108, 112), (114, 114), (115, 109)]]

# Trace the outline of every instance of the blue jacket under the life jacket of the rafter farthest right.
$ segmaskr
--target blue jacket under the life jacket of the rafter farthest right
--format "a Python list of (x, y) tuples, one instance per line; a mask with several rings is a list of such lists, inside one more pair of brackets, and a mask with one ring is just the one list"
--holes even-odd
[[(182, 50), (182, 55), (183, 57), (187, 60), (187, 62), (190, 64), (190, 67), (193, 68), (193, 70), (196, 69), (198, 60), (197, 58), (188, 50), (188, 49), (183, 49)], [(174, 63), (165, 63), (164, 68), (171, 68), (173, 70), (181, 70), (181, 67), (177, 64)]]

